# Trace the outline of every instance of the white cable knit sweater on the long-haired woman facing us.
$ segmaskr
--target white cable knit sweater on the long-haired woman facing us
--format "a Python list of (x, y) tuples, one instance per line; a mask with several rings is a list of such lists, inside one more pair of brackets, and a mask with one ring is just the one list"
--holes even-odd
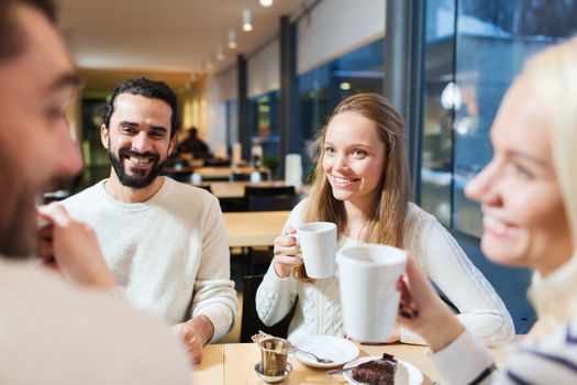
[[(295, 207), (285, 227), (302, 224), (307, 199)], [(341, 235), (337, 248), (360, 243)], [(514, 336), (511, 316), (489, 282), (445, 228), (413, 204), (409, 205), (404, 220), (402, 244), (458, 308), (459, 321), (474, 336), (488, 344), (504, 343)], [(265, 324), (277, 323), (290, 311), (297, 297), (289, 337), (343, 333), (337, 275), (303, 283), (290, 276), (279, 278), (271, 264), (256, 294), (258, 317)], [(419, 336), (408, 330), (401, 330), (401, 341), (424, 344)]]

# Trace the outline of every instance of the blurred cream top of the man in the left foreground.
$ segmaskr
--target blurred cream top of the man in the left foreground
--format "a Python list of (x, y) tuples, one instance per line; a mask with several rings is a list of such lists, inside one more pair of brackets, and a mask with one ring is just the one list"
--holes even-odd
[(121, 297), (0, 261), (0, 383), (190, 384), (177, 337)]

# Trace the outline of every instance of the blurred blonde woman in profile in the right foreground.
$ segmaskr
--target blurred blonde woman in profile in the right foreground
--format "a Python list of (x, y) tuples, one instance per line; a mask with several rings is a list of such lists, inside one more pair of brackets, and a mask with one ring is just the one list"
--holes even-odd
[(576, 40), (525, 64), (491, 141), (493, 158), (466, 194), (482, 205), (485, 254), (534, 271), (530, 297), (539, 328), (496, 371), (487, 348), (446, 311), (413, 261), (399, 320), (428, 342), (443, 384), (577, 384)]

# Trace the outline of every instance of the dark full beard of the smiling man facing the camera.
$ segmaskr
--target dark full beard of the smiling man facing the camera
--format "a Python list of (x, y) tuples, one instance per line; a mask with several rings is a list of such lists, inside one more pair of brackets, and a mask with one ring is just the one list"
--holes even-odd
[[(158, 153), (145, 152), (141, 154), (134, 150), (127, 150), (127, 148), (120, 148), (119, 154), (116, 156), (110, 151), (110, 142), (109, 142), (108, 148), (109, 148), (108, 158), (110, 163), (112, 164), (112, 168), (114, 168), (114, 173), (116, 173), (116, 177), (119, 178), (122, 186), (131, 187), (131, 188), (148, 187), (154, 182), (154, 179), (156, 179), (156, 177), (160, 175), (168, 160), (168, 156), (167, 156), (167, 158), (160, 162), (159, 161), (160, 155), (158, 155)], [(152, 167), (148, 170), (133, 168), (132, 175), (127, 175), (123, 166), (123, 160), (126, 158), (127, 155), (140, 156), (140, 157), (151, 157)]]

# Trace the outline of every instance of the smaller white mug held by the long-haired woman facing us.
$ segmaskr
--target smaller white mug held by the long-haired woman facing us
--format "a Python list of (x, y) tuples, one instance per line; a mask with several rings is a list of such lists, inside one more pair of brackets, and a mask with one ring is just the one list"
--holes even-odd
[(311, 222), (299, 226), (296, 234), (300, 245), (307, 275), (311, 278), (329, 278), (335, 272), (336, 224)]

